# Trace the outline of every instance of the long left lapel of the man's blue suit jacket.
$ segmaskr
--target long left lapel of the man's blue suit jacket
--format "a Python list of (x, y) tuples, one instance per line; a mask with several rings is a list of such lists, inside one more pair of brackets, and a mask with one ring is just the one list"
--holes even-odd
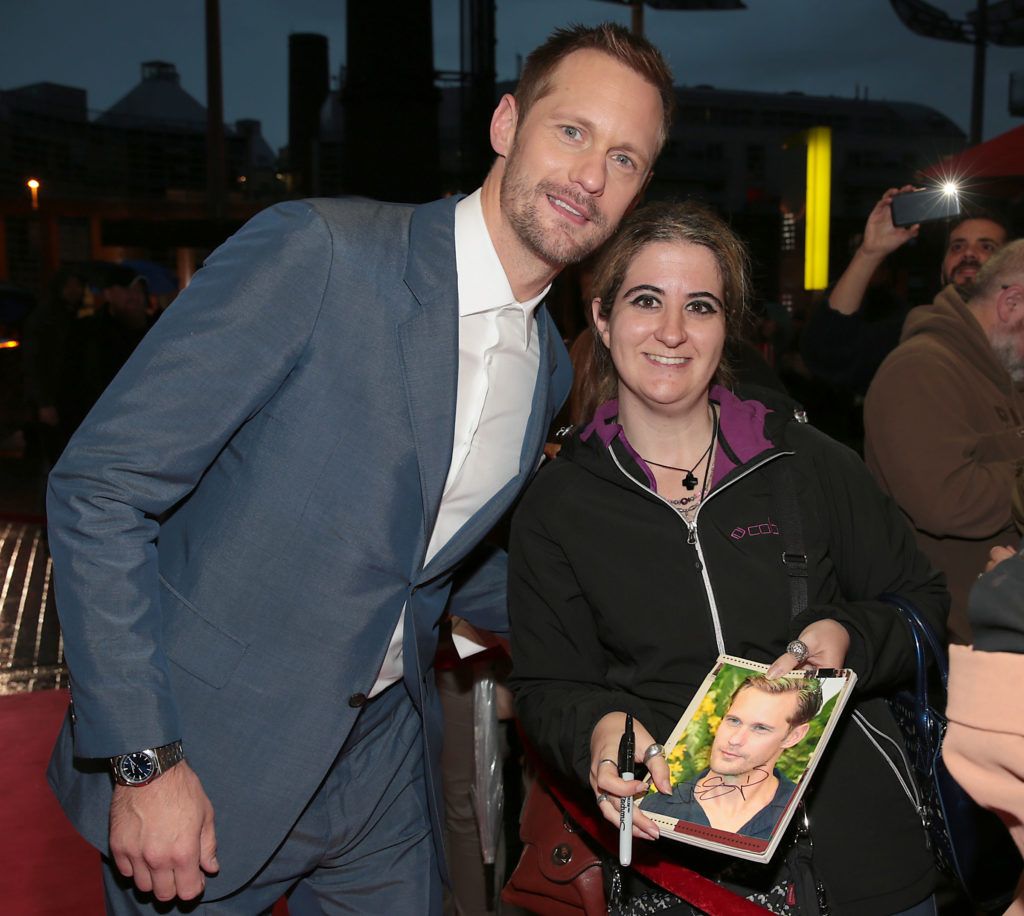
[(420, 308), (398, 325), (402, 378), (423, 496), (416, 567), (440, 508), (452, 464), (459, 374), (459, 283), (455, 199), (417, 208), (410, 225), (406, 285)]

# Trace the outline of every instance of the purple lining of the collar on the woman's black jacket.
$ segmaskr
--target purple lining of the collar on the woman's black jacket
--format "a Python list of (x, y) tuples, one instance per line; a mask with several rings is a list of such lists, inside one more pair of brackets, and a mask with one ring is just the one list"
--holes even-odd
[[(761, 454), (762, 451), (772, 447), (772, 443), (764, 434), (765, 418), (772, 411), (761, 401), (741, 400), (721, 385), (715, 385), (711, 389), (709, 397), (719, 405), (719, 435), (729, 443), (729, 448), (739, 459), (740, 465), (746, 464)], [(606, 448), (610, 448), (611, 443), (617, 439), (633, 461), (637, 463), (637, 467), (646, 475), (647, 485), (654, 492), (657, 492), (657, 483), (653, 473), (636, 449), (630, 445), (625, 430), (616, 423), (617, 417), (618, 401), (615, 399), (605, 401), (594, 412), (594, 419), (583, 431), (580, 438), (586, 442), (592, 435), (596, 434)], [(732, 462), (719, 442), (715, 449), (715, 475), (712, 478), (712, 489), (715, 489), (722, 478), (736, 467), (737, 465)]]

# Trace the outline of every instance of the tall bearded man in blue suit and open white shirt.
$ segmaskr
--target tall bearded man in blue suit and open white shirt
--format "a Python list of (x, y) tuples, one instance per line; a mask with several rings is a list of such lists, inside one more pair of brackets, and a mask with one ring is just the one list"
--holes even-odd
[(506, 625), (480, 541), (569, 381), (540, 303), (642, 192), (671, 103), (642, 39), (555, 33), (482, 188), (257, 216), (86, 420), (49, 487), (50, 781), (112, 912), (439, 912), (438, 623)]

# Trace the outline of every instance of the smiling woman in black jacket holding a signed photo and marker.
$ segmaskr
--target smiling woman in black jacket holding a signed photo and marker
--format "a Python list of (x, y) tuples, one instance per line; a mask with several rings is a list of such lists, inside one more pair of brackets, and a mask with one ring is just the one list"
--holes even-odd
[[(771, 664), (770, 677), (851, 667), (852, 708), (806, 798), (816, 877), (836, 916), (931, 913), (932, 857), (907, 777), (896, 775), (885, 702), (911, 674), (910, 638), (877, 597), (911, 601), (939, 634), (948, 597), (852, 451), (777, 396), (727, 387), (722, 350), (741, 324), (746, 277), (742, 243), (691, 204), (637, 211), (597, 265), (598, 370), (613, 399), (542, 470), (513, 521), (519, 715), (548, 764), (617, 824), (620, 797), (641, 788), (608, 762), (627, 713), (640, 759), (668, 738), (719, 654)], [(793, 511), (806, 575), (783, 563)], [(804, 646), (790, 654), (794, 641)], [(671, 792), (664, 757), (648, 767)], [(635, 836), (657, 836), (642, 813), (634, 824)], [(705, 874), (726, 865), (663, 845)], [(771, 886), (781, 859), (758, 883)]]

